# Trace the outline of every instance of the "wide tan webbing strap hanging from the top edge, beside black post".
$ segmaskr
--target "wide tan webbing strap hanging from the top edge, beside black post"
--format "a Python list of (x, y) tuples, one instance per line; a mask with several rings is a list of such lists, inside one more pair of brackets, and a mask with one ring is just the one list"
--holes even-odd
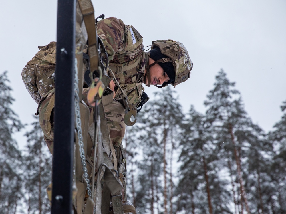
[(90, 70), (94, 72), (99, 65), (97, 49), (97, 34), (94, 23), (94, 9), (90, 0), (79, 0), (80, 9), (84, 17), (84, 24), (88, 33), (88, 55), (90, 57)]

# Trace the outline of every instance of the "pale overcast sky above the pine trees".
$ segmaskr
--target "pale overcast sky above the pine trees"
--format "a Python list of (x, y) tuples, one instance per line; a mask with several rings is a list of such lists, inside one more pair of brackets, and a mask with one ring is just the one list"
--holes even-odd
[[(285, 0), (92, 2), (95, 16), (103, 13), (133, 25), (144, 46), (157, 39), (185, 45), (194, 67), (191, 78), (175, 88), (184, 112), (191, 104), (205, 112), (206, 94), (222, 68), (236, 82), (254, 123), (269, 131), (281, 119), (279, 106), (286, 100)], [(33, 121), (37, 104), (22, 82), (21, 71), (37, 53), (37, 46), (56, 40), (56, 16), (55, 0), (1, 3), (0, 72), (8, 71), (13, 109), (23, 123)], [(156, 90), (160, 89), (146, 88), (151, 98)]]

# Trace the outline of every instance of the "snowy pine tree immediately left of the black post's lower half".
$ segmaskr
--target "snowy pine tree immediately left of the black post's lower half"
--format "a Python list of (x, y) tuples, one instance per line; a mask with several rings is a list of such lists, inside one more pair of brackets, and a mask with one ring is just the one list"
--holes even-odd
[[(35, 117), (35, 119), (38, 119)], [(52, 157), (44, 141), (39, 121), (31, 124), (27, 132), (27, 155), (25, 156), (25, 190), (28, 213), (50, 213), (46, 188), (51, 183)]]

